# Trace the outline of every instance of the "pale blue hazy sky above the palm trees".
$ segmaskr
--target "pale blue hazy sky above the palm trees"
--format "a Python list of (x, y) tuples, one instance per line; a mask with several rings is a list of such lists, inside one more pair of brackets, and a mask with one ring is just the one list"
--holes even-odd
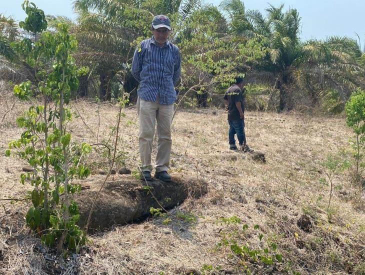
[[(72, 11), (73, 0), (31, 0), (46, 14), (65, 15), (75, 18)], [(16, 20), (25, 17), (21, 9), (23, 0), (0, 0), (0, 13), (12, 15)], [(205, 0), (205, 3), (218, 5), (220, 0)], [(246, 9), (258, 9), (264, 14), (264, 9), (271, 3), (278, 6), (284, 3), (284, 8), (296, 8), (301, 16), (302, 40), (309, 38), (324, 39), (329, 35), (349, 36), (360, 35), (361, 46), (365, 39), (365, 0), (246, 0)]]

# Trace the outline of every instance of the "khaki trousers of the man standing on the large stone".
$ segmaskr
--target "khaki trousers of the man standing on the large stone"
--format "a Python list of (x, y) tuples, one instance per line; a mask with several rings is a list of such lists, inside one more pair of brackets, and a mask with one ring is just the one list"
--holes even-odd
[(151, 171), (152, 139), (157, 121), (156, 172), (167, 171), (171, 152), (171, 120), (173, 104), (159, 104), (138, 97), (137, 113), (139, 116), (139, 153), (143, 171)]

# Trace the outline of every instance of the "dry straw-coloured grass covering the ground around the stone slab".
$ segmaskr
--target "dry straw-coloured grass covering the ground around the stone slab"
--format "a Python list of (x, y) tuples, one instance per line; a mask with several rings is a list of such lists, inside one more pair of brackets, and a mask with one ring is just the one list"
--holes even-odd
[[(0, 98), (2, 106), (11, 106), (11, 97)], [(96, 104), (77, 101), (72, 105), (81, 115), (68, 126), (74, 138), (89, 143), (109, 139), (116, 123), (116, 105), (101, 104), (99, 115)], [(0, 125), (0, 198), (20, 198), (29, 188), (18, 183), (25, 163), (3, 156), (7, 142), (20, 134), (14, 119), (24, 107), (16, 102)], [(329, 190), (319, 184), (325, 175), (320, 162), (348, 148), (351, 131), (343, 117), (247, 112), (248, 144), (265, 153), (267, 162), (262, 164), (227, 150), (226, 114), (216, 112), (179, 111), (173, 121), (171, 170), (203, 178), (209, 190), (204, 197), (187, 199), (173, 211), (191, 213), (197, 223), (172, 220), (163, 225), (162, 218), (149, 218), (116, 226), (89, 236), (88, 248), (81, 255), (55, 261), (33, 249), (39, 239), (24, 225), (27, 203), (6, 204), (0, 208), (0, 273), (223, 274), (242, 273), (242, 263), (256, 273), (365, 272), (363, 191), (350, 183), (348, 171), (336, 175), (337, 189), (327, 211)], [(131, 158), (138, 158), (137, 133), (135, 109), (125, 109), (118, 149)], [(89, 162), (96, 169), (105, 167), (108, 159), (98, 151)], [(124, 164), (136, 168), (128, 159), (116, 168)], [(215, 222), (232, 215), (239, 217), (241, 224)], [(246, 233), (240, 230), (243, 223), (249, 225)], [(260, 225), (262, 241), (252, 228), (254, 224)], [(270, 269), (232, 255), (229, 247), (217, 249), (216, 243), (229, 234), (252, 248), (275, 240), (283, 263)]]

